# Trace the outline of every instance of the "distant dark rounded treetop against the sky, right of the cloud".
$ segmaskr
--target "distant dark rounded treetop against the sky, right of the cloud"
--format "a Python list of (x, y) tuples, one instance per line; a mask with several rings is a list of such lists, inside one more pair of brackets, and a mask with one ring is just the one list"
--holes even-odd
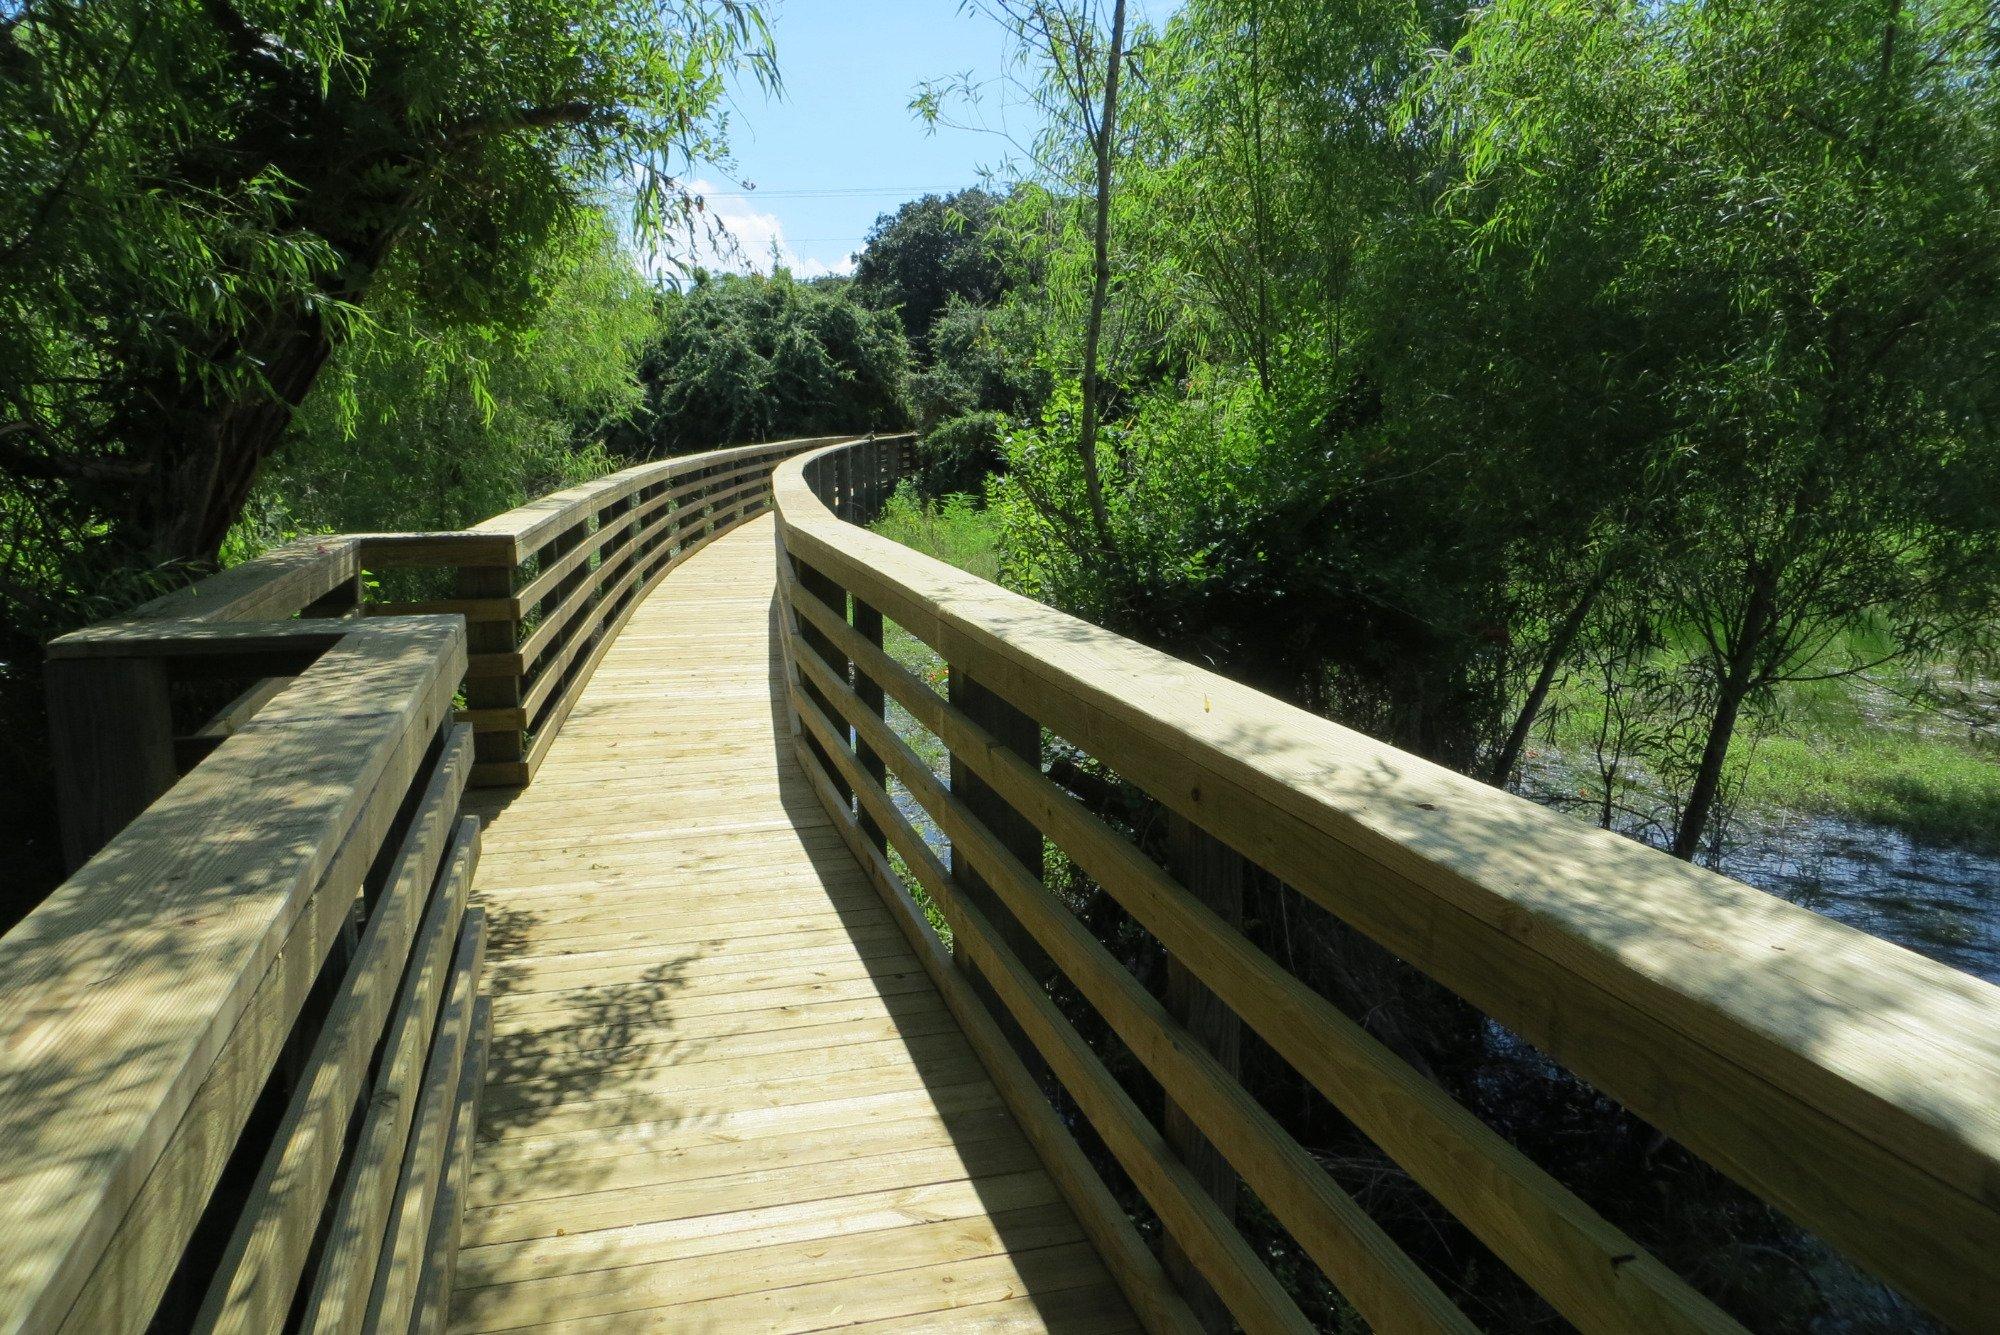
[(882, 214), (854, 262), (854, 296), (894, 310), (910, 344), (928, 352), (932, 326), (954, 300), (992, 306), (1006, 292), (996, 206), (996, 196), (972, 188)]

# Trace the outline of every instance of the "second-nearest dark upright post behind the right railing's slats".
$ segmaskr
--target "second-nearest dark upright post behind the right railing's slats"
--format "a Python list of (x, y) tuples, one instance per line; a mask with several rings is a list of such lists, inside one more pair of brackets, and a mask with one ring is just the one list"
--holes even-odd
[[(994, 739), (1026, 759), (1036, 769), (1042, 767), (1042, 725), (1032, 717), (1010, 705), (1006, 699), (986, 689), (974, 681), (956, 664), (950, 666), (946, 675), (946, 689), (950, 693), (952, 705), (964, 713), (968, 719), (984, 727), (994, 735)], [(1036, 879), (1042, 877), (1042, 831), (1034, 827), (1034, 821), (1024, 817), (1020, 811), (1010, 807), (1000, 793), (986, 785), (980, 775), (972, 771), (956, 753), (952, 755), (952, 795), (964, 801), (966, 811), (970, 811), (994, 837), (1014, 853), (1026, 867), (1028, 875)], [(1020, 961), (1028, 967), (1034, 977), (1046, 981), (1054, 975), (1054, 963), (1048, 951), (1034, 939), (1026, 927), (1008, 911), (1000, 895), (994, 893), (992, 885), (972, 869), (970, 859), (960, 855), (958, 847), (952, 847), (952, 879), (958, 881), (966, 899), (972, 901), (980, 913), (994, 925)], [(956, 953), (956, 951), (954, 951)], [(1022, 1063), (1040, 1081), (1048, 1071), (1048, 1063), (1042, 1061), (1042, 1053), (1036, 1051), (1034, 1043), (1020, 1031), (1014, 1023), (1012, 1013), (1000, 1003), (992, 987), (980, 975), (978, 965), (972, 963), (962, 953), (956, 953), (958, 967), (964, 971), (972, 985), (972, 991), (980, 997), (994, 1019), (1006, 1031), (1008, 1041), (1014, 1043), (1014, 1051), (1020, 1053)]]

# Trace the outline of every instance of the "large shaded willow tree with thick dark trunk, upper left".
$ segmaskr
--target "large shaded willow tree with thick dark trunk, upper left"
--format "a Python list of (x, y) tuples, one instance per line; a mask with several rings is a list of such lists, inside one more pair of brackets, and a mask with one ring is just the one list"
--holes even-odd
[(604, 188), (688, 226), (738, 0), (28, 0), (0, 22), (6, 592), (216, 558), (392, 256), (526, 320)]

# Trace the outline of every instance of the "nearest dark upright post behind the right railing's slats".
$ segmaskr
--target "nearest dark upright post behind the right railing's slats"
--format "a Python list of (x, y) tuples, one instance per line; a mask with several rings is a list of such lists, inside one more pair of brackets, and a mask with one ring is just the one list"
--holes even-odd
[[(1244, 861), (1232, 847), (1210, 835), (1194, 821), (1168, 811), (1166, 845), (1174, 875), (1196, 899), (1214, 909), (1222, 921), (1242, 923), (1244, 915)], [(1166, 1009), (1188, 1027), (1196, 1043), (1206, 1047), (1230, 1075), (1242, 1067), (1242, 1021), (1236, 1011), (1222, 1003), (1216, 993), (1202, 987), (1174, 955), (1166, 957)], [(1222, 1153), (1194, 1129), (1188, 1115), (1166, 1099), (1164, 1131), (1168, 1145), (1188, 1165), (1202, 1189), (1214, 1197), (1216, 1205), (1230, 1219), (1236, 1217), (1236, 1171)], [(1188, 1253), (1168, 1235), (1162, 1261), (1168, 1277), (1188, 1299), (1188, 1307), (1204, 1329), (1234, 1331), (1230, 1309), (1222, 1305), (1208, 1281), (1202, 1279)]]

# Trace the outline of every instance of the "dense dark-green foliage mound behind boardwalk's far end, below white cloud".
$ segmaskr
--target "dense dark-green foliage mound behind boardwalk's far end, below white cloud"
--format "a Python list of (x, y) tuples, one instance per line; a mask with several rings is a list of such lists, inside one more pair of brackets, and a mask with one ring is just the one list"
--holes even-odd
[(844, 284), (802, 284), (784, 272), (700, 276), (658, 302), (658, 334), (640, 370), (646, 402), (616, 438), (628, 454), (908, 422), (902, 328)]

